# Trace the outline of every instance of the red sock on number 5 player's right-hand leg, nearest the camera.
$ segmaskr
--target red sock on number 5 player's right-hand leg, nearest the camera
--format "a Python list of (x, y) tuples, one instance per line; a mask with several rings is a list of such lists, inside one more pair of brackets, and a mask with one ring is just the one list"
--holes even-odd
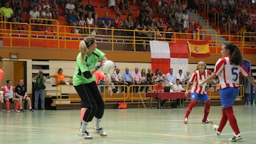
[(233, 112), (233, 108), (228, 108), (225, 109), (225, 112), (228, 116), (228, 121), (230, 122), (230, 126), (233, 129), (233, 131), (235, 132), (235, 135), (238, 135), (240, 133), (239, 128), (238, 128), (238, 123), (236, 121), (234, 112)]

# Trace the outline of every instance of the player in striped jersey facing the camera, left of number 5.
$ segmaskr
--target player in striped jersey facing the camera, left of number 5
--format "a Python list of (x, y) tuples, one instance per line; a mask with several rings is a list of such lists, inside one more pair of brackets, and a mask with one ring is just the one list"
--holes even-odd
[(188, 96), (188, 89), (191, 84), (191, 102), (188, 104), (188, 107), (186, 109), (186, 114), (183, 119), (183, 123), (188, 123), (188, 116), (191, 113), (193, 106), (196, 105), (196, 101), (200, 100), (201, 103), (205, 105), (205, 111), (202, 123), (213, 123), (212, 121), (208, 120), (208, 114), (210, 112), (210, 99), (209, 96), (206, 94), (206, 84), (203, 84), (203, 87), (199, 87), (199, 82), (202, 82), (204, 79), (206, 79), (210, 75), (210, 71), (206, 70), (206, 63), (205, 62), (198, 62), (197, 66), (198, 70), (196, 70), (192, 77), (188, 80), (188, 84), (186, 86), (186, 92), (185, 95)]

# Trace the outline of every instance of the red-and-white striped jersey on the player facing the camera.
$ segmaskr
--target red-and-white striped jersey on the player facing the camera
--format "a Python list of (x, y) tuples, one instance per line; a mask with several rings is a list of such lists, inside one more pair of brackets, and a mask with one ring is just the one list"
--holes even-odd
[(204, 79), (207, 79), (210, 75), (209, 70), (205, 70), (203, 73), (201, 73), (199, 70), (196, 70), (191, 79), (189, 79), (188, 82), (191, 82), (192, 89), (191, 92), (196, 92), (198, 94), (206, 94), (206, 84), (203, 84), (202, 87), (198, 86), (198, 83), (203, 82)]

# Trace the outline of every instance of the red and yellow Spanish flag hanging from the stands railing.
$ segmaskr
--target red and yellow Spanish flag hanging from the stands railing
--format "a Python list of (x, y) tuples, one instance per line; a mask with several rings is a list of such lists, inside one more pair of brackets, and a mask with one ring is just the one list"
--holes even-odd
[(210, 48), (208, 41), (188, 41), (190, 55), (193, 57), (209, 57)]

